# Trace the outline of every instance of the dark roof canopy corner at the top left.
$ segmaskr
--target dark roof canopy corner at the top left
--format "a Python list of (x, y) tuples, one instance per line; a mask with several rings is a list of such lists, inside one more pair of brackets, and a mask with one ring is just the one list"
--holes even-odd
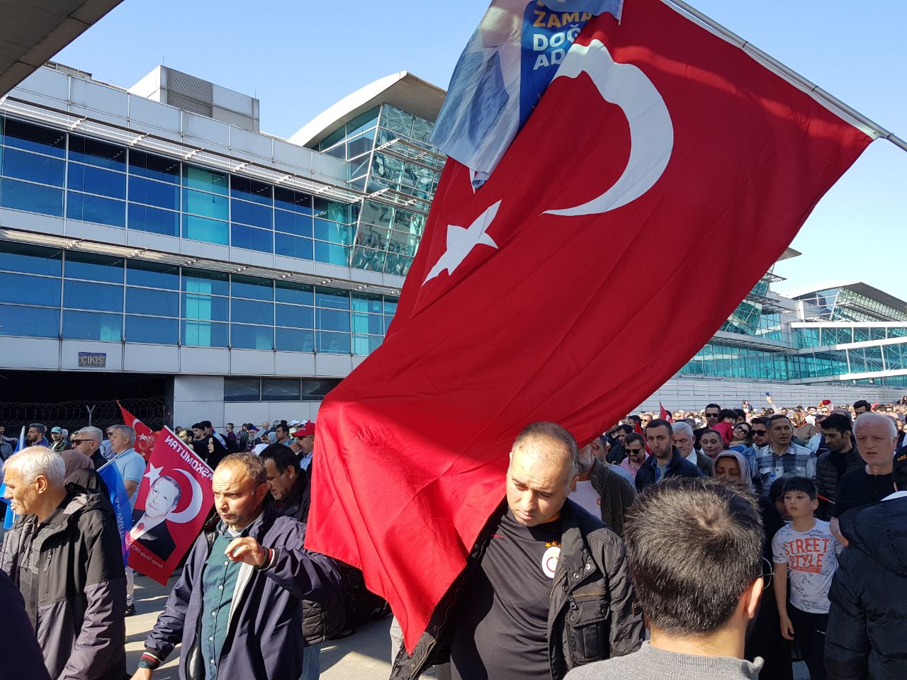
[(0, 0), (0, 95), (12, 90), (121, 0)]

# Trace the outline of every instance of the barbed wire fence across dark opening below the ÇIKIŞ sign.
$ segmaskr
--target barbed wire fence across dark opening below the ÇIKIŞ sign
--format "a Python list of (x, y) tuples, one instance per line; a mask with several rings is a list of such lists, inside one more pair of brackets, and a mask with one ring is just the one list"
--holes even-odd
[[(125, 398), (120, 403), (151, 430), (160, 430), (164, 425), (173, 424), (171, 403), (162, 395)], [(31, 423), (42, 423), (48, 431), (52, 427), (62, 427), (72, 434), (89, 424), (100, 427), (103, 432), (110, 425), (122, 422), (122, 412), (115, 400), (0, 402), (0, 425), (5, 426), (7, 437), (18, 436), (22, 426), (27, 428)]]

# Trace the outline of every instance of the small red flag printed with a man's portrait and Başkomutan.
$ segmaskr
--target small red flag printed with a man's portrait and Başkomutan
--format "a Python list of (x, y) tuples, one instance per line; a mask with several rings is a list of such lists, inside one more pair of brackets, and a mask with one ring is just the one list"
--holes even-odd
[(214, 505), (214, 471), (169, 427), (160, 432), (126, 534), (129, 566), (163, 586)]

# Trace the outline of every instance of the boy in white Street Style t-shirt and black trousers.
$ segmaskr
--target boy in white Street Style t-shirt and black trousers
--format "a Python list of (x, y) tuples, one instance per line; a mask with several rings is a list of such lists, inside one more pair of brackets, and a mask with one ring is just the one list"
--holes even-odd
[(772, 553), (781, 635), (788, 640), (796, 639), (811, 680), (825, 680), (828, 589), (842, 547), (828, 528), (828, 522), (814, 518), (813, 513), (819, 507), (817, 495), (812, 480), (792, 477), (785, 481), (785, 510), (793, 521), (778, 529), (772, 540)]

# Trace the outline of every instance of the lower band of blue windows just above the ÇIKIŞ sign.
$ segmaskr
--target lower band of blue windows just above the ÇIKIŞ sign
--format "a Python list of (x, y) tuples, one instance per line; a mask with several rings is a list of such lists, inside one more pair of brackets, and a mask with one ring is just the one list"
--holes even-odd
[(368, 355), (381, 345), (396, 303), (0, 241), (0, 335)]

